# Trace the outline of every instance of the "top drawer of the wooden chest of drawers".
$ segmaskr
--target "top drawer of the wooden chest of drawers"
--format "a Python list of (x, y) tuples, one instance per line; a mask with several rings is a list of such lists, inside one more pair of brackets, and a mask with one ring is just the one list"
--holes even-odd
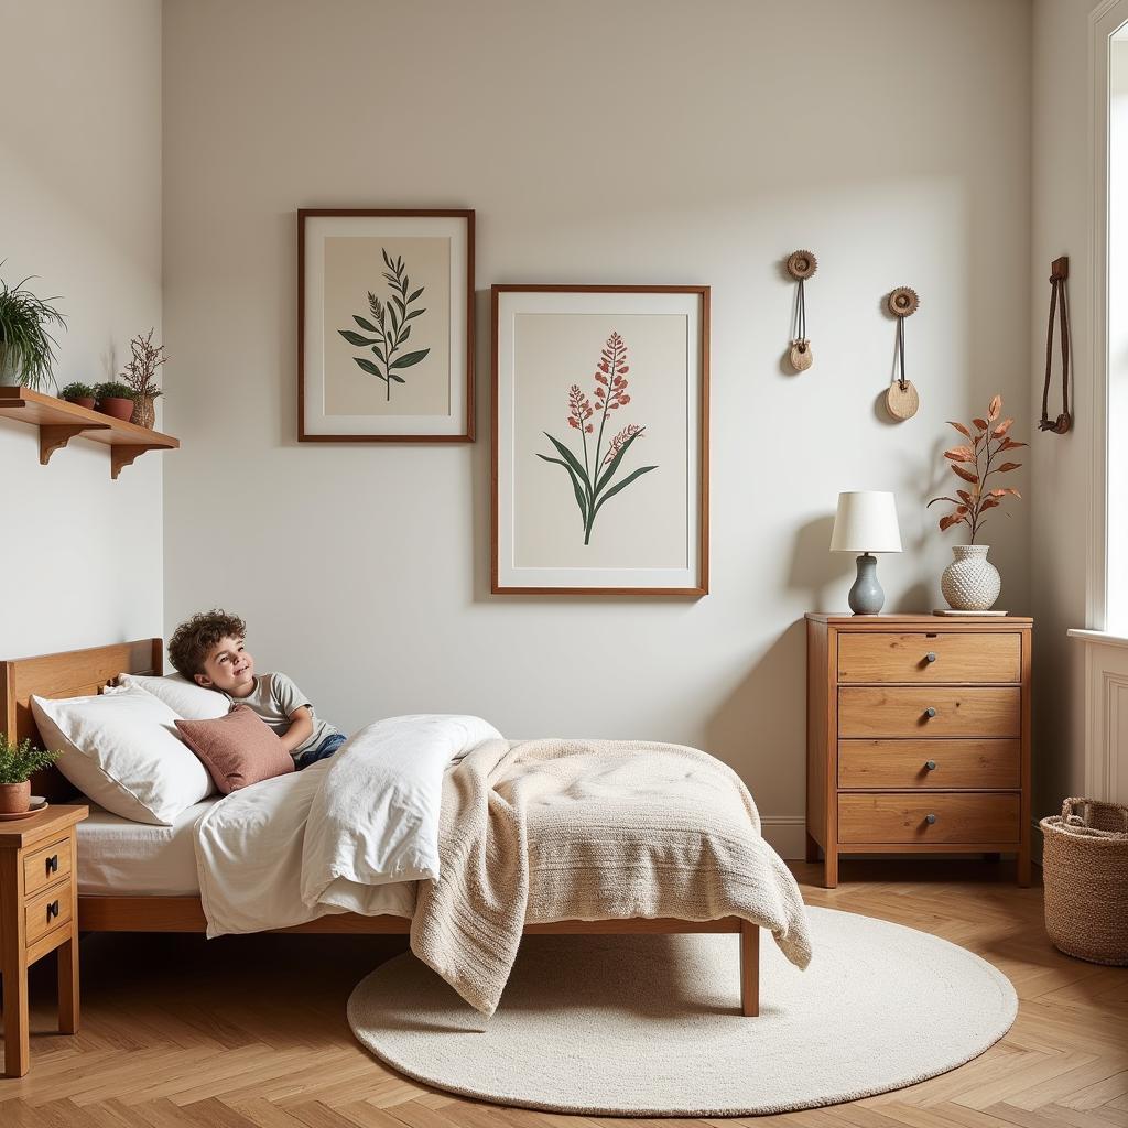
[(839, 634), (839, 681), (1021, 681), (1019, 634)]

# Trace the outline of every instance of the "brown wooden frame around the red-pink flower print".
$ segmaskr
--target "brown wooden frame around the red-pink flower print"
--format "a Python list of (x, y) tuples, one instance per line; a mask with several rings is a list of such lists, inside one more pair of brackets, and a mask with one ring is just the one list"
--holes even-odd
[[(513, 585), (503, 582), (500, 564), (500, 522), (502, 519), (502, 490), (500, 477), (501, 459), (501, 301), (504, 294), (682, 294), (696, 296), (698, 325), (698, 389), (697, 404), (697, 561), (694, 582), (686, 585), (668, 587), (572, 587), (572, 585)], [(708, 594), (708, 435), (710, 435), (710, 288), (707, 285), (558, 285), (558, 284), (497, 284), (491, 291), (491, 324), (493, 341), (491, 346), (491, 376), (493, 394), (493, 430), (491, 435), (491, 591), (494, 594), (525, 596), (682, 596), (699, 598)], [(609, 389), (610, 391), (610, 389)], [(597, 412), (596, 418), (598, 420)], [(552, 450), (549, 448), (549, 453)], [(597, 459), (599, 453), (597, 451)], [(562, 464), (563, 465), (563, 464)], [(566, 469), (566, 467), (565, 467)], [(642, 473), (640, 470), (640, 473)], [(580, 502), (580, 486), (575, 487)], [(598, 496), (598, 494), (597, 494)], [(582, 504), (581, 504), (582, 510)]]

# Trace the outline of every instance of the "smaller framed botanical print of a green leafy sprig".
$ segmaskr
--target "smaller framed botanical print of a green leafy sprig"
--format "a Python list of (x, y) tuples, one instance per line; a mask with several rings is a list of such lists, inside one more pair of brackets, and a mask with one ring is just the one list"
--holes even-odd
[(474, 440), (474, 212), (298, 212), (298, 438)]

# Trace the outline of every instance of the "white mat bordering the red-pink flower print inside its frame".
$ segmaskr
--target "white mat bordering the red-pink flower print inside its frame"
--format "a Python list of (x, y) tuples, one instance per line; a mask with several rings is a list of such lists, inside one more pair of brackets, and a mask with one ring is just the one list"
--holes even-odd
[[(697, 589), (700, 569), (702, 467), (702, 294), (645, 292), (510, 291), (497, 294), (497, 587), (500, 588), (636, 588)], [(670, 567), (519, 567), (513, 532), (514, 484), (514, 320), (519, 314), (672, 314), (687, 319), (686, 536), (690, 565)]]

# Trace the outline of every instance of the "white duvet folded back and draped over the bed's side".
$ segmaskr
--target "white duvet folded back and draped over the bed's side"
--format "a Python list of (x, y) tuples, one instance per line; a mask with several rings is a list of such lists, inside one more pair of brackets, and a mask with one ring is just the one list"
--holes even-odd
[(262, 932), (327, 913), (411, 917), (439, 876), (447, 766), (497, 739), (476, 716), (398, 716), (328, 760), (232, 792), (195, 827), (208, 935)]

